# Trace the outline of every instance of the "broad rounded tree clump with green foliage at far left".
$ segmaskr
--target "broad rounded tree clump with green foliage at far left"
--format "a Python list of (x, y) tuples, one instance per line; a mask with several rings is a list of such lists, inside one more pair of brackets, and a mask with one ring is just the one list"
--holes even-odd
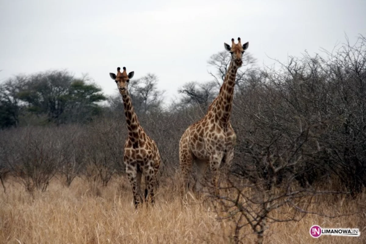
[(32, 116), (36, 123), (44, 123), (42, 117), (56, 124), (86, 122), (101, 114), (98, 102), (104, 100), (87, 76), (76, 79), (65, 70), (20, 74), (0, 85), (0, 125), (18, 125), (20, 117), (28, 124)]

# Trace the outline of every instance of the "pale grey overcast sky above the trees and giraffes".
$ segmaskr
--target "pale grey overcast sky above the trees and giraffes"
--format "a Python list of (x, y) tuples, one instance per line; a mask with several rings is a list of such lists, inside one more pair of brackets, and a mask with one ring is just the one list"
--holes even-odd
[(258, 65), (366, 34), (365, 0), (0, 0), (0, 79), (67, 69), (116, 94), (109, 72), (155, 73), (166, 100), (208, 81), (223, 43), (249, 41)]

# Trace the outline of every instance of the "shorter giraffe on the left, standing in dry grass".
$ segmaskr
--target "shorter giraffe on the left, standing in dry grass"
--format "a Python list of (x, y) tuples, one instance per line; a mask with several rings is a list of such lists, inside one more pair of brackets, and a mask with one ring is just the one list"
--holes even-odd
[(150, 203), (154, 203), (154, 187), (157, 184), (157, 172), (160, 167), (160, 154), (156, 143), (151, 139), (142, 126), (139, 124), (137, 115), (131, 103), (127, 88), (134, 72), (127, 74), (126, 67), (123, 72), (117, 68), (117, 75), (109, 73), (109, 76), (115, 80), (118, 91), (122, 95), (124, 114), (126, 115), (128, 137), (124, 144), (123, 161), (126, 164), (126, 174), (132, 186), (134, 204), (137, 208), (142, 203), (140, 191), (142, 174), (145, 176), (146, 189), (145, 200), (149, 195)]

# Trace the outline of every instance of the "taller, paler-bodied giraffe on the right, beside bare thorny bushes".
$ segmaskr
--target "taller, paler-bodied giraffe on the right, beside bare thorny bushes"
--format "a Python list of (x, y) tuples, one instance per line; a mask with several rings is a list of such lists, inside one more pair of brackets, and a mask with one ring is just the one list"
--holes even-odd
[(205, 116), (191, 124), (179, 141), (179, 163), (184, 182), (183, 192), (188, 189), (188, 179), (192, 171), (193, 161), (195, 161), (198, 167), (196, 190), (202, 187), (200, 181), (205, 176), (209, 165), (213, 174), (214, 193), (217, 194), (220, 163), (221, 161), (224, 163), (224, 172), (227, 172), (234, 158), (236, 135), (229, 118), (236, 72), (243, 64), (243, 53), (248, 48), (249, 42), (242, 45), (240, 37), (238, 44), (235, 44), (234, 38), (231, 39), (231, 42), (231, 47), (224, 43), (225, 49), (231, 54), (231, 61), (224, 83), (220, 87), (219, 95), (213, 100)]

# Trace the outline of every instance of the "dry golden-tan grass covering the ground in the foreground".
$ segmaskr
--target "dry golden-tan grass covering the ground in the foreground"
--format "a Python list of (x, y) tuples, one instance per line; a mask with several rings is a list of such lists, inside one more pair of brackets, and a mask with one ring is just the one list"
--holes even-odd
[[(135, 211), (123, 177), (97, 190), (82, 179), (75, 179), (70, 188), (55, 180), (45, 193), (33, 196), (8, 180), (7, 193), (0, 193), (0, 243), (231, 243), (230, 223), (216, 221), (207, 204), (182, 204), (177, 185), (162, 184), (156, 205)], [(361, 210), (365, 197), (344, 201), (341, 211)], [(312, 210), (335, 215), (339, 206), (333, 197)], [(313, 239), (309, 228), (314, 224), (358, 227), (361, 237)], [(272, 224), (265, 243), (366, 243), (365, 228), (365, 212), (335, 219), (308, 215), (300, 222)], [(242, 234), (245, 243), (256, 240), (249, 228)]]

